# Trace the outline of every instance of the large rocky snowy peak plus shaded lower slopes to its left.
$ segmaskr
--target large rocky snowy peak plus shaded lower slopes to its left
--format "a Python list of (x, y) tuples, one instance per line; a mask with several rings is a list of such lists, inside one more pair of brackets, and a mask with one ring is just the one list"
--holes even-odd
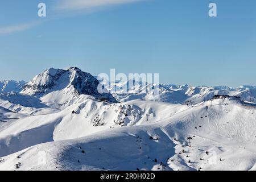
[[(79, 68), (49, 68), (36, 75), (30, 82), (23, 82), (22, 90), (14, 87), (0, 94), (0, 106), (11, 111), (31, 114), (40, 108), (60, 108), (81, 99), (117, 102), (108, 92), (100, 94), (98, 80)], [(19, 93), (17, 93), (20, 91)]]

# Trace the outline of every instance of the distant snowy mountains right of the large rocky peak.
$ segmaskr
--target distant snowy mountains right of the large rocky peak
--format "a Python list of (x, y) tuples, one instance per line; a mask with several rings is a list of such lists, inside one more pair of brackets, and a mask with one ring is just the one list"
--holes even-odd
[[(150, 89), (154, 86), (159, 96), (155, 96), (155, 90)], [(256, 86), (240, 86), (231, 88), (228, 86), (190, 86), (174, 84), (146, 84), (134, 82), (129, 90), (129, 82), (110, 83), (109, 90), (113, 96), (120, 102), (134, 99), (155, 100), (160, 102), (170, 102), (172, 104), (182, 104), (186, 101), (200, 103), (210, 100), (214, 95), (224, 94), (229, 96), (239, 96), (245, 101), (256, 101)], [(149, 92), (143, 93), (143, 90)]]

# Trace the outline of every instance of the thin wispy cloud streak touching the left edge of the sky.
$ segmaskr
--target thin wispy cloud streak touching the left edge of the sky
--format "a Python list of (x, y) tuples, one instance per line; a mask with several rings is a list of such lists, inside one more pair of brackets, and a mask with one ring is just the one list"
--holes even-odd
[(22, 23), (6, 27), (0, 27), (0, 35), (28, 30), (36, 25), (38, 25), (38, 22)]

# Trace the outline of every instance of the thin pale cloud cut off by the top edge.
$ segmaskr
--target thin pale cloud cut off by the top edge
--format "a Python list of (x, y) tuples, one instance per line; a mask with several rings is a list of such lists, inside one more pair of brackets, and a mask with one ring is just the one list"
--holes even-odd
[(134, 3), (139, 1), (145, 0), (63, 0), (57, 7), (63, 10), (81, 10)]

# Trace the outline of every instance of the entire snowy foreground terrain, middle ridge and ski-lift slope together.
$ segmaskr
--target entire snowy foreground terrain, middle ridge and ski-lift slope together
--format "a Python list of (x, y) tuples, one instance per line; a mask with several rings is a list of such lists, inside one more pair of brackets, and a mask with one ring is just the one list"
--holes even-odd
[[(0, 130), (0, 156), (4, 160), (0, 169), (256, 169), (255, 106), (227, 99), (214, 100), (212, 107), (207, 101), (191, 108), (154, 101), (123, 103), (130, 104), (137, 110), (150, 111), (143, 114), (137, 125), (109, 129), (90, 125), (83, 118), (88, 109), (92, 110), (86, 105), (19, 119)], [(74, 107), (81, 110), (72, 115)], [(107, 126), (114, 123), (112, 107), (118, 108), (102, 108), (110, 112), (105, 114), (109, 118), (104, 121)], [(192, 138), (191, 147), (188, 137)]]

